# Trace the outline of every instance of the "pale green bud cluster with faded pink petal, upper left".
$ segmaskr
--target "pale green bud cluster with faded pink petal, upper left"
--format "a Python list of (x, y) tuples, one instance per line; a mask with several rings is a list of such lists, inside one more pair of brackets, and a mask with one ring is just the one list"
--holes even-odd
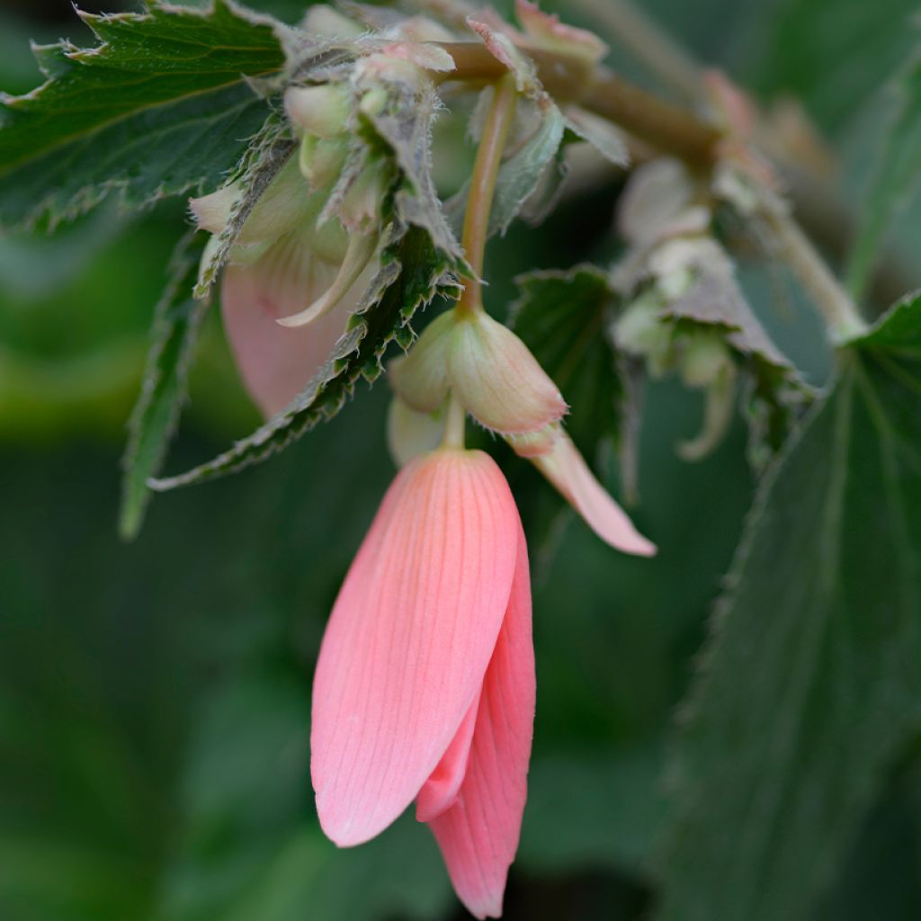
[[(384, 213), (398, 169), (364, 144), (359, 122), (388, 105), (394, 87), (418, 86), (453, 66), (428, 41), (449, 33), (410, 19), (373, 41), (327, 6), (311, 9), (311, 35), (353, 38), (366, 53), (324, 82), (286, 89), (298, 142), (236, 233), (227, 254), (221, 307), (227, 338), (253, 400), (266, 416), (283, 410), (319, 370), (379, 268)], [(192, 199), (198, 227), (213, 237), (203, 272), (232, 227), (246, 192), (234, 182)]]

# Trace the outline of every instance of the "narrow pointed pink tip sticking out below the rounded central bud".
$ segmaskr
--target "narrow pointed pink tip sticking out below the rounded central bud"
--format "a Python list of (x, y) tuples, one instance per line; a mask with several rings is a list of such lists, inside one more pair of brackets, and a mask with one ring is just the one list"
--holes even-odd
[(624, 509), (595, 479), (572, 439), (562, 429), (554, 448), (532, 460), (602, 541), (625, 554), (656, 554), (656, 545), (635, 529)]

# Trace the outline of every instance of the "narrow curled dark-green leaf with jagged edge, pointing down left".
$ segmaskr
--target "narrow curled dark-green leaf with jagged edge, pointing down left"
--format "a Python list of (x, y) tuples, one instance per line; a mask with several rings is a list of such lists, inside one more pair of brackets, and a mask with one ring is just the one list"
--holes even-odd
[(154, 489), (200, 483), (264, 461), (337, 414), (359, 378), (372, 381), (378, 377), (385, 349), (412, 320), (415, 310), (438, 294), (456, 294), (449, 265), (425, 230), (405, 228), (397, 238), (383, 253), (378, 278), (372, 283), (365, 306), (353, 314), (332, 356), (300, 396), (214, 461), (179, 476), (152, 481)]

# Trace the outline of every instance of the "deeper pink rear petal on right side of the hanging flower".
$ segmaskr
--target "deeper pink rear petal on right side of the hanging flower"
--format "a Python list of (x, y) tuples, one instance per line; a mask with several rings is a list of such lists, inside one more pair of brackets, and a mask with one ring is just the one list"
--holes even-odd
[(502, 914), (528, 796), (535, 677), (528, 550), (520, 523), (518, 546), (515, 581), (486, 670), (467, 773), (457, 803), (429, 823), (455, 891), (478, 918)]

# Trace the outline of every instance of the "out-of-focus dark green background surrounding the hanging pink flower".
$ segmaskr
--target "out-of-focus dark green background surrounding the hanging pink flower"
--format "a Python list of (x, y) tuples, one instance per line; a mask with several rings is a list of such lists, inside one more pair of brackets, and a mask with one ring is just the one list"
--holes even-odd
[[(252, 6), (297, 17), (297, 0)], [(858, 200), (880, 86), (913, 41), (912, 6), (645, 8), (765, 102), (800, 99)], [(35, 86), (29, 39), (61, 36), (88, 41), (64, 0), (0, 5), (0, 88)], [(612, 178), (497, 243), (496, 312), (520, 271), (607, 251), (617, 192)], [(116, 536), (124, 423), (184, 221), (182, 203), (142, 216), (107, 206), (52, 238), (0, 238), (0, 919), (461, 918), (424, 828), (406, 816), (337, 851), (309, 787), (323, 624), (393, 475), (386, 385), (362, 389), (283, 457), (158, 497), (136, 542)], [(751, 274), (752, 297), (821, 382), (816, 323), (775, 298), (770, 274)], [(677, 460), (700, 409), (669, 382), (647, 394), (635, 517), (656, 560), (615, 554), (572, 522), (535, 572), (538, 712), (514, 921), (627, 921), (653, 904), (665, 743), (752, 497), (740, 425), (707, 461)], [(170, 469), (256, 418), (214, 315)], [(919, 799), (916, 773), (893, 778), (822, 917), (921, 916)], [(869, 901), (854, 897), (858, 870)]]

